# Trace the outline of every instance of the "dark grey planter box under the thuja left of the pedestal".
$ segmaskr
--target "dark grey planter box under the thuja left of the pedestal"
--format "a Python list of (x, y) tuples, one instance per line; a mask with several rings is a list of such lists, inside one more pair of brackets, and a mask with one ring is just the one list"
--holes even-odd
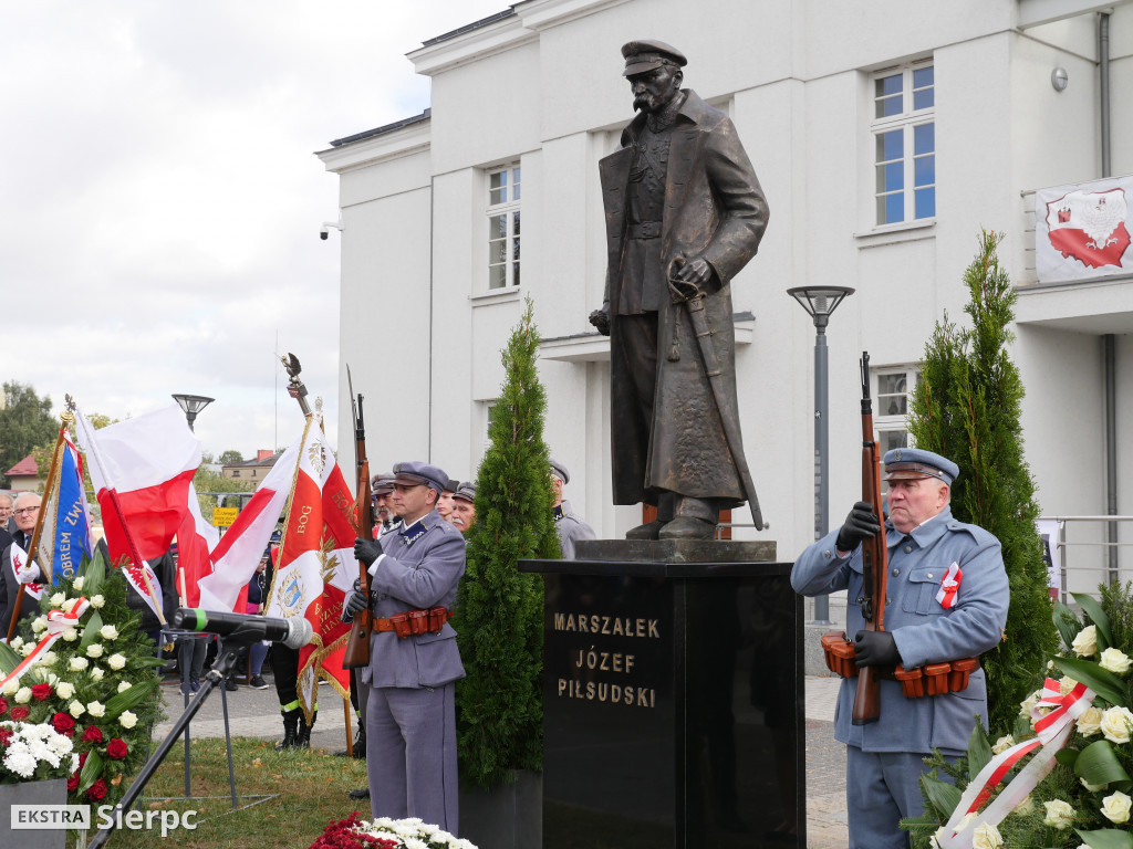
[(520, 770), (512, 784), (460, 788), (460, 837), (477, 849), (543, 846), (543, 773)]

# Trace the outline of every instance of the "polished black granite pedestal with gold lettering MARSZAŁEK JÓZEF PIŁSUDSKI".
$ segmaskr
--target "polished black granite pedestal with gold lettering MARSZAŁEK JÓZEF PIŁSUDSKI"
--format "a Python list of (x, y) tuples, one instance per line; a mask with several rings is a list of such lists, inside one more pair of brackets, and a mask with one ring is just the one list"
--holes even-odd
[(806, 847), (802, 602), (768, 542), (579, 542), (544, 575), (544, 849)]

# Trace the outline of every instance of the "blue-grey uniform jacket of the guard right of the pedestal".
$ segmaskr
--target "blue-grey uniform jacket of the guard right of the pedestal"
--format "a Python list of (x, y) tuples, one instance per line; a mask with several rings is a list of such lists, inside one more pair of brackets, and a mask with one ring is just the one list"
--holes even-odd
[[(803, 595), (846, 590), (846, 634), (852, 640), (866, 627), (861, 547), (847, 558), (838, 557), (836, 538), (833, 531), (802, 552), (791, 572), (791, 584)], [(885, 629), (893, 633), (905, 668), (977, 657), (999, 643), (1010, 589), (995, 537), (957, 522), (946, 507), (908, 534), (886, 523), (885, 540), (889, 555)], [(955, 602), (945, 610), (936, 595), (953, 563), (963, 576)], [(842, 681), (834, 736), (864, 752), (939, 748), (959, 755), (968, 749), (976, 714), (987, 726), (982, 669), (972, 672), (966, 689), (923, 698), (905, 698), (897, 681), (881, 680), (880, 719), (867, 726), (851, 723), (857, 685), (857, 678)]]

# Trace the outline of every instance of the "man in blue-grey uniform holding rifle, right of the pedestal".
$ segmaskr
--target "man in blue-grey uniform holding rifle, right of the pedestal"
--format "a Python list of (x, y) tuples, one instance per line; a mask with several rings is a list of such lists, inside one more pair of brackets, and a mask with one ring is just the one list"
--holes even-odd
[[(845, 524), (799, 557), (791, 584), (803, 595), (846, 590), (846, 635), (857, 664), (906, 669), (977, 657), (999, 643), (1010, 589), (999, 541), (982, 528), (952, 517), (955, 463), (919, 448), (885, 455), (889, 516), (885, 524), (888, 576), (885, 631), (864, 631), (861, 542), (881, 532), (870, 505), (854, 505)], [(955, 568), (953, 568), (955, 567)], [(959, 569), (959, 572), (957, 572)], [(942, 586), (959, 576), (955, 594)], [(932, 749), (949, 757), (968, 748), (974, 717), (987, 728), (982, 669), (959, 693), (906, 698), (895, 680), (880, 680), (877, 722), (851, 723), (857, 679), (838, 691), (834, 736), (846, 745), (846, 805), (851, 849), (909, 846), (901, 817), (919, 816), (921, 758)]]

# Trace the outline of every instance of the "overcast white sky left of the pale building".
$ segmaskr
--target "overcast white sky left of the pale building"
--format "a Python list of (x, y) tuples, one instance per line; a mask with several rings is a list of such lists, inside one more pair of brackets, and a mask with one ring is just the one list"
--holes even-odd
[[(0, 379), (56, 410), (208, 395), (205, 451), (334, 417), (330, 140), (419, 113), (406, 53), (506, 0), (0, 0)], [(335, 430), (330, 428), (330, 432)]]

